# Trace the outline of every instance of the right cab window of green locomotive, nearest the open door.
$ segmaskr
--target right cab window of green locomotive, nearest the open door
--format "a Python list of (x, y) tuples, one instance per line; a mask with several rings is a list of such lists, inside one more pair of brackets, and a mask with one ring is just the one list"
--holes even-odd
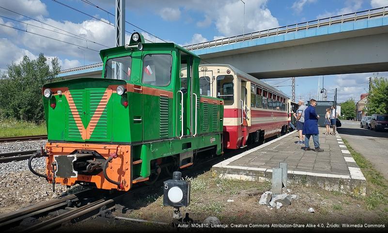
[(171, 82), (172, 56), (170, 54), (147, 54), (143, 61), (142, 83), (168, 86)]

